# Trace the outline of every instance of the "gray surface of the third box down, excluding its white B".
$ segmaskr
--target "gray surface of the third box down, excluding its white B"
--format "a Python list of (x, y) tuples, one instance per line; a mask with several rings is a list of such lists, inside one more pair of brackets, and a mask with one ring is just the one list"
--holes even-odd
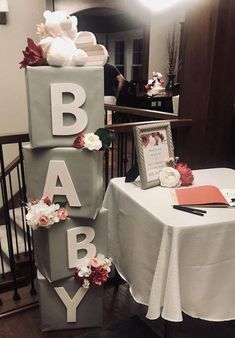
[[(73, 250), (68, 240), (68, 231), (79, 227), (92, 227), (95, 237), (91, 241), (96, 247), (96, 254), (107, 256), (107, 209), (102, 208), (95, 220), (71, 219), (55, 223), (50, 229), (38, 228), (33, 231), (35, 262), (40, 272), (54, 282), (74, 275), (75, 268), (69, 268), (69, 250)], [(80, 237), (79, 237), (80, 236)], [(72, 238), (76, 242), (84, 239), (85, 235)], [(70, 251), (71, 252), (71, 251)], [(81, 259), (86, 250), (74, 250), (71, 254)], [(70, 260), (71, 265), (71, 260)]]

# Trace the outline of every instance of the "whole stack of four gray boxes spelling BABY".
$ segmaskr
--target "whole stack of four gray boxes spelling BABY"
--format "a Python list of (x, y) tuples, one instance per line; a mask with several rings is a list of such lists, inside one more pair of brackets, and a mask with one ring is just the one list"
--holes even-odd
[[(101, 209), (103, 152), (75, 149), (74, 131), (73, 135), (64, 135), (63, 131), (62, 135), (54, 133), (53, 124), (58, 121), (53, 109), (58, 113), (60, 95), (64, 130), (78, 122), (80, 113), (81, 124), (84, 121), (86, 124), (83, 133), (102, 128), (103, 67), (28, 67), (26, 85), (30, 144), (24, 146), (23, 152), (27, 198), (40, 199), (47, 195), (69, 214), (67, 220), (55, 223), (50, 229), (33, 231), (41, 329), (101, 326), (102, 287), (82, 288), (74, 272), (84, 258), (107, 254), (107, 211)], [(67, 89), (53, 96), (52, 89), (57, 85)], [(74, 86), (78, 89), (76, 94), (68, 90)], [(70, 104), (76, 100), (80, 102), (77, 115), (69, 111)]]

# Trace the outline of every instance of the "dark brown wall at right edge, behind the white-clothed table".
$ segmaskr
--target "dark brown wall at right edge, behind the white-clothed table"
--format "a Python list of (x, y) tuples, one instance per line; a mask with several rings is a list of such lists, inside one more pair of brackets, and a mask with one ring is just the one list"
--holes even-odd
[(197, 0), (187, 10), (180, 116), (192, 117), (177, 152), (192, 168), (235, 164), (235, 2)]

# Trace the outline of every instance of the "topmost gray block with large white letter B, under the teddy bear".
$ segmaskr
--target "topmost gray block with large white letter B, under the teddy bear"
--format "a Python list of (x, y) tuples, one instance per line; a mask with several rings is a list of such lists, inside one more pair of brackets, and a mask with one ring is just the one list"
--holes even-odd
[(103, 67), (27, 67), (33, 148), (71, 147), (104, 125)]

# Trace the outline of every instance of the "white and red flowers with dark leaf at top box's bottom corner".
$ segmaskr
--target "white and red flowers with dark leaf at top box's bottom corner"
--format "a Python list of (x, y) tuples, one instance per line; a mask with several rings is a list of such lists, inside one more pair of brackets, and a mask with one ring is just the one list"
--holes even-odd
[(113, 139), (113, 131), (106, 128), (99, 128), (95, 133), (79, 134), (73, 146), (77, 149), (106, 150)]

